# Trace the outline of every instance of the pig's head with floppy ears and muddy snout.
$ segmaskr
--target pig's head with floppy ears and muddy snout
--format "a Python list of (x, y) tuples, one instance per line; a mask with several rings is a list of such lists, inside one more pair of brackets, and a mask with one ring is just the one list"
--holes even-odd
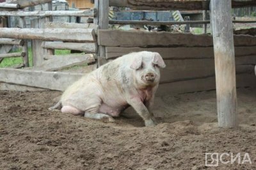
[(157, 52), (135, 53), (131, 69), (136, 85), (140, 88), (154, 87), (159, 83), (159, 68), (165, 67), (164, 60)]

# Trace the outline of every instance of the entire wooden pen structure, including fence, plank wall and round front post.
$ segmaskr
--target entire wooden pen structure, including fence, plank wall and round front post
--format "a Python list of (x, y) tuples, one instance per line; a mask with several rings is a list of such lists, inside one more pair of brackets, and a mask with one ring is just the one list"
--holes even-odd
[[(1, 89), (65, 90), (83, 73), (63, 68), (87, 64), (89, 71), (125, 53), (159, 52), (166, 62), (158, 95), (216, 89), (220, 127), (236, 127), (236, 88), (255, 87), (256, 37), (233, 36), (231, 9), (256, 6), (253, 0), (95, 0), (83, 11), (22, 11), (51, 0), (14, 0), (0, 3), (0, 16), (20, 17), (21, 28), (0, 28), (0, 44), (20, 45), (20, 53), (1, 53), (0, 58), (22, 56), (17, 68), (0, 69)], [(109, 20), (109, 6), (136, 10), (206, 10), (211, 12), (212, 36), (109, 30), (109, 24), (208, 24), (209, 20), (184, 22)], [(38, 17), (35, 29), (27, 29), (24, 17)], [(52, 16), (93, 17), (93, 24), (51, 22)], [(239, 22), (239, 21), (236, 21)], [(28, 39), (35, 41), (33, 67), (28, 67)], [(80, 50), (68, 56), (54, 49)], [(88, 69), (86, 70), (88, 72)]]

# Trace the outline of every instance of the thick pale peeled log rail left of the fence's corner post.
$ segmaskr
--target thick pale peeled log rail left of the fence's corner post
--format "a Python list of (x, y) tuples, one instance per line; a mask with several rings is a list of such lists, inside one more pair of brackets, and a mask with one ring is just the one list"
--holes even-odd
[(42, 39), (44, 41), (93, 42), (93, 29), (0, 28), (0, 38)]

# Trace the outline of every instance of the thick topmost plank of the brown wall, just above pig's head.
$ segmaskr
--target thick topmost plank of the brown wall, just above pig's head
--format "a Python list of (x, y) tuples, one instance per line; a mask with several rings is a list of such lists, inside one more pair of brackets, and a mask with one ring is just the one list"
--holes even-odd
[[(170, 32), (136, 32), (136, 31), (115, 31), (98, 30), (98, 44), (102, 46), (123, 46), (123, 47), (207, 47), (213, 46), (212, 36), (193, 34), (173, 34)], [(256, 46), (256, 37), (236, 35), (234, 36), (235, 46)]]

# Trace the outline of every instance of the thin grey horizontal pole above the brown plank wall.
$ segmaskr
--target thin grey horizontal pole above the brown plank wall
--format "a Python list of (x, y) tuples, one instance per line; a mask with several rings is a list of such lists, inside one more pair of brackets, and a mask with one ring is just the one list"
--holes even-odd
[(109, 24), (118, 25), (182, 25), (182, 24), (210, 24), (209, 20), (187, 21), (149, 21), (149, 20), (109, 20)]

